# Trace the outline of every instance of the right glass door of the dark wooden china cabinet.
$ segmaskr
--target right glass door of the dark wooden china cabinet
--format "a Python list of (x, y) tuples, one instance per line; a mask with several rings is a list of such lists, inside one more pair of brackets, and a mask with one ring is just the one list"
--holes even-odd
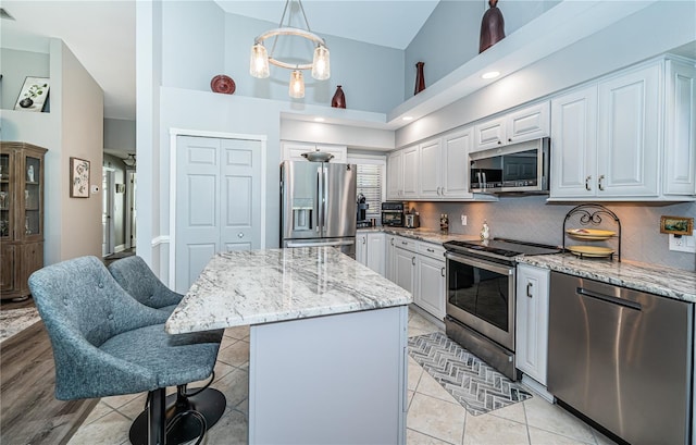
[(24, 238), (42, 237), (44, 224), (41, 215), (41, 181), (44, 177), (41, 159), (32, 156), (24, 158), (24, 190), (20, 199), (24, 208), (24, 218), (20, 221), (23, 226), (17, 227), (24, 234)]

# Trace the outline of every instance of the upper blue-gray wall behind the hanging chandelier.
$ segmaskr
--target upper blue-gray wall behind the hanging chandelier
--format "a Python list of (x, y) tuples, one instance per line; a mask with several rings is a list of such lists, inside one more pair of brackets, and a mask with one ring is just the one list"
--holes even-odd
[[(274, 27), (277, 23), (226, 14), (213, 2), (163, 3), (162, 85), (210, 91), (211, 78), (226, 74), (236, 84), (227, 100), (235, 96), (275, 99), (299, 110), (303, 104), (331, 104), (337, 85), (343, 86), (349, 109), (386, 113), (403, 101), (403, 51), (331, 35), (322, 35), (332, 54), (331, 79), (314, 81), (306, 71), (304, 98), (290, 99), (288, 70), (271, 65), (265, 79), (249, 74), (254, 37)], [(291, 47), (284, 46), (288, 41)], [(269, 41), (269, 51), (271, 47)], [(282, 39), (276, 54), (283, 53), (307, 54), (311, 60), (312, 48), (304, 41)]]

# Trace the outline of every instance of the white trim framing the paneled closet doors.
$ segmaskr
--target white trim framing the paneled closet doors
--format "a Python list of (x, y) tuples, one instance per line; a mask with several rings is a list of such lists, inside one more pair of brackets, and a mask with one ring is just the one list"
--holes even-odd
[[(170, 128), (170, 236), (166, 242), (172, 245), (169, 250), (169, 287), (176, 288), (176, 138), (178, 136), (214, 137), (219, 139), (258, 140), (261, 143), (261, 249), (265, 249), (265, 202), (266, 202), (266, 135), (249, 135), (240, 133), (209, 132), (202, 129)], [(158, 237), (158, 238), (164, 238)], [(154, 247), (154, 244), (152, 245)]]

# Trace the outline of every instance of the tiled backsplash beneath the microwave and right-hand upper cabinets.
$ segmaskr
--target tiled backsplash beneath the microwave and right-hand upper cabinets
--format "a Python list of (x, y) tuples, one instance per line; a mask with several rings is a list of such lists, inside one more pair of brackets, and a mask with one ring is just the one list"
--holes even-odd
[[(621, 220), (621, 258), (671, 268), (696, 271), (696, 255), (669, 250), (668, 235), (660, 233), (660, 217), (696, 218), (696, 202), (664, 206), (649, 202), (599, 202)], [(563, 219), (575, 205), (547, 203), (545, 196), (502, 197), (498, 202), (410, 202), (421, 215), (421, 227), (439, 230), (439, 215), (449, 215), (449, 231), (477, 235), (484, 220), (493, 237), (561, 245)], [(461, 224), (467, 215), (467, 226)], [(606, 217), (601, 228), (614, 230)], [(570, 238), (567, 244), (570, 244)], [(618, 245), (616, 240), (607, 245)]]

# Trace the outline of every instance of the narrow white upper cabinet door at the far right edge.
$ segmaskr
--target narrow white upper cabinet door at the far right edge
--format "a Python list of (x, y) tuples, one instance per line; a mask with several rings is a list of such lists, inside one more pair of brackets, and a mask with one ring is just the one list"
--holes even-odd
[(696, 195), (696, 67), (668, 60), (664, 95), (664, 195)]

